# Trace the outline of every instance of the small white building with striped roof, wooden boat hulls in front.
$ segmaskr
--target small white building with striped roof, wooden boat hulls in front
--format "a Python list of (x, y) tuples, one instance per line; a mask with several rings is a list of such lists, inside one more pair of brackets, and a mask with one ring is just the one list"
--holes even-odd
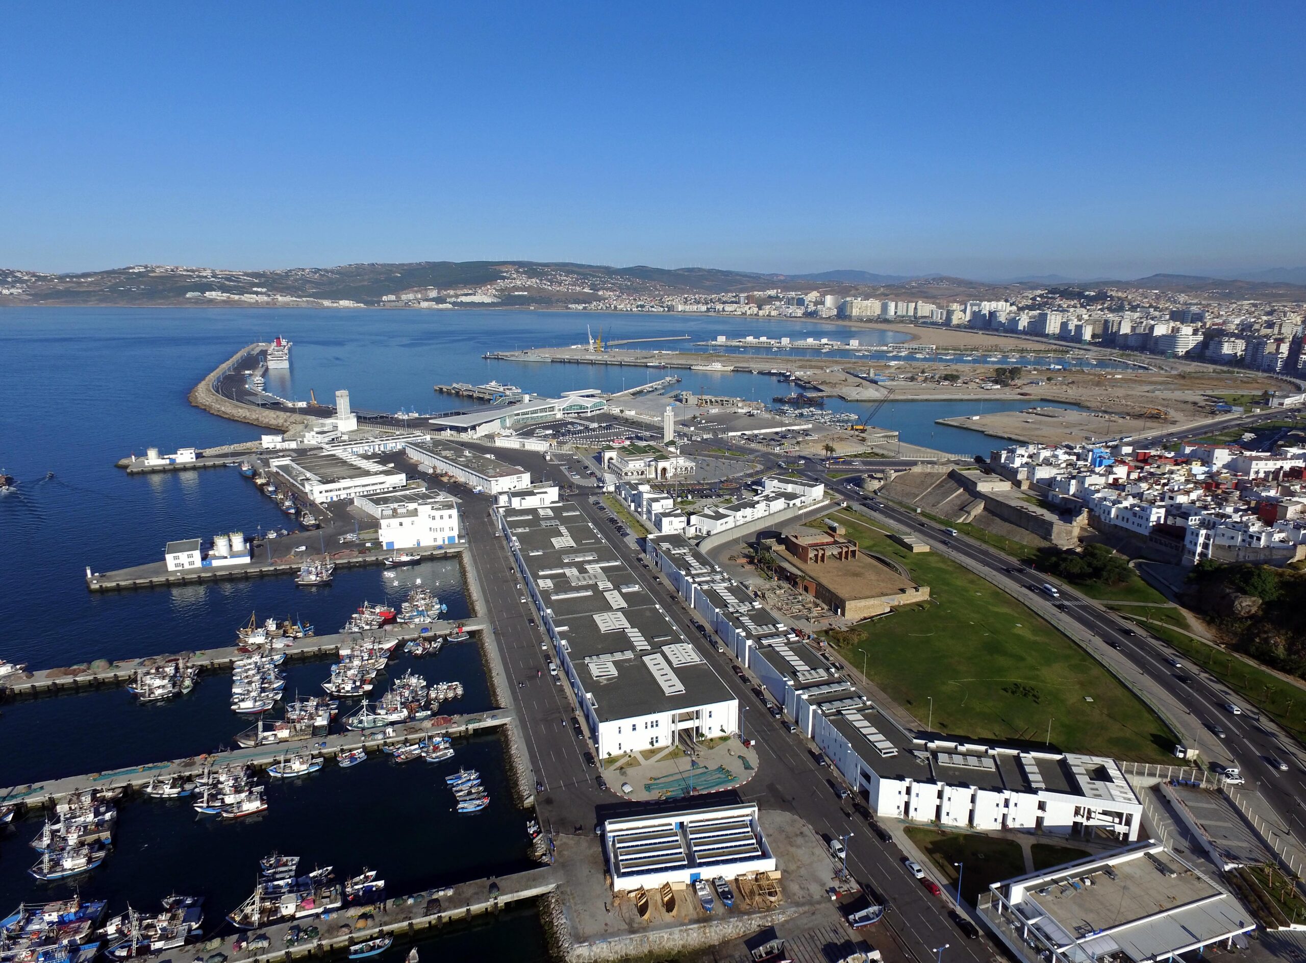
[(754, 804), (609, 819), (603, 856), (614, 892), (776, 870)]

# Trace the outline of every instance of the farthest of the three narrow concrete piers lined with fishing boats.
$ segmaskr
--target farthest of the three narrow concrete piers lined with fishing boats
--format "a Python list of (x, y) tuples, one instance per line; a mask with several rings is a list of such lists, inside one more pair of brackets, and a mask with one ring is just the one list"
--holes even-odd
[[(303, 639), (295, 639), (294, 644), (279, 651), (285, 652), (287, 659), (312, 659), (315, 656), (336, 655), (341, 645), (357, 643), (368, 636), (407, 642), (423, 635), (448, 635), (460, 625), (469, 632), (481, 632), (486, 630), (487, 622), (483, 618), (470, 618), (462, 622), (432, 622), (426, 626), (427, 631), (422, 631), (417, 626), (389, 625), (371, 632), (308, 635)], [(187, 652), (185, 657), (192, 665), (199, 665), (204, 669), (229, 669), (231, 668), (231, 662), (242, 655), (235, 645), (230, 645), (226, 648)], [(24, 678), (14, 679), (10, 677), (9, 681), (0, 685), (0, 693), (5, 696), (48, 695), (119, 686), (131, 682), (136, 677), (137, 669), (178, 657), (175, 655), (146, 656), (142, 659), (123, 659), (116, 662), (104, 662), (101, 666), (91, 664), (40, 669), (38, 672), (24, 673)]]

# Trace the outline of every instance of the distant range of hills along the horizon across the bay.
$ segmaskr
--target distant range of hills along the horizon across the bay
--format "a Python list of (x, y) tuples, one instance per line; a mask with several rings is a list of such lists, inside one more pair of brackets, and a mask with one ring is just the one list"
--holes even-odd
[[(947, 274), (876, 274), (841, 269), (778, 274), (718, 268), (613, 268), (565, 261), (415, 261), (333, 268), (226, 270), (132, 265), (51, 274), (0, 269), (3, 304), (295, 304), (349, 301), (383, 304), (396, 298), (470, 298), (469, 303), (558, 307), (607, 298), (692, 297), (765, 289), (816, 287), (827, 294), (875, 294), (936, 302), (1016, 293), (1030, 287), (1162, 290), (1212, 298), (1306, 301), (1306, 268), (1273, 268), (1241, 278), (1152, 274), (1132, 281), (1074, 280), (1059, 274), (974, 281)], [(436, 294), (431, 293), (436, 289)]]

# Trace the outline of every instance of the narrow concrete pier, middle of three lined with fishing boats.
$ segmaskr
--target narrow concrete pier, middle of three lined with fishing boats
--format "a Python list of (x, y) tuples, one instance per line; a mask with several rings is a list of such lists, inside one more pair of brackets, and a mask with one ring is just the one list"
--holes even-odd
[(334, 755), (342, 749), (380, 750), (387, 746), (397, 746), (406, 742), (419, 742), (427, 736), (468, 736), (486, 729), (498, 729), (512, 721), (512, 712), (508, 710), (491, 710), (461, 716), (434, 716), (422, 723), (409, 723), (406, 725), (383, 726), (371, 732), (342, 732), (333, 736), (323, 736), (313, 740), (298, 740), (278, 742), (268, 746), (251, 746), (248, 749), (232, 749), (225, 753), (209, 753), (189, 759), (171, 759), (167, 762), (146, 763), (131, 766), (124, 770), (110, 772), (88, 772), (64, 779), (51, 779), (44, 783), (14, 785), (0, 789), (0, 805), (25, 804), (27, 806), (44, 806), (76, 792), (90, 789), (136, 789), (149, 785), (157, 776), (199, 776), (208, 767), (222, 766), (256, 766), (265, 767), (277, 762), (282, 757), (311, 746), (313, 754)]

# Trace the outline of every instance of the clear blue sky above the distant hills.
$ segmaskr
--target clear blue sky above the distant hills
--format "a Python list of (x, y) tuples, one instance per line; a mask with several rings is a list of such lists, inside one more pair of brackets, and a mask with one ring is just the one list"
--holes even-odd
[(0, 267), (1306, 264), (1306, 4), (7, 4)]

